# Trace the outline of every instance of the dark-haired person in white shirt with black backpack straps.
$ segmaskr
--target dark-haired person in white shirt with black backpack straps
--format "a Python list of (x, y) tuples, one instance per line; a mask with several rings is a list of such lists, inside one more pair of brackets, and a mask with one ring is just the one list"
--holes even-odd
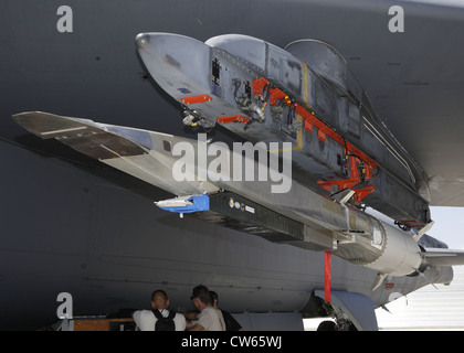
[[(165, 320), (158, 323), (158, 318), (155, 314), (155, 310), (157, 310), (160, 315), (159, 318), (168, 318), (171, 313), (172, 321), (175, 323), (176, 331), (184, 331), (186, 330), (186, 318), (181, 313), (175, 313), (168, 310), (169, 307), (169, 298), (166, 291), (158, 289), (155, 290), (151, 295), (151, 308), (152, 310), (138, 310), (134, 312), (133, 318), (140, 331), (156, 331), (162, 330), (162, 327), (168, 327), (166, 330), (171, 329), (169, 328), (169, 323), (165, 323)], [(158, 323), (158, 324), (157, 324)]]

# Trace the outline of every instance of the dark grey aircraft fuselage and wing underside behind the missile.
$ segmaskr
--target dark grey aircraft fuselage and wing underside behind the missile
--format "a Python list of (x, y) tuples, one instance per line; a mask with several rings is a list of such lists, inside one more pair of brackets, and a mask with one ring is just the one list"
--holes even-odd
[[(302, 311), (324, 288), (324, 254), (166, 213), (170, 196), (56, 141), (43, 141), (11, 116), (43, 110), (196, 138), (179, 106), (146, 72), (140, 32), (205, 41), (242, 33), (284, 47), (313, 38), (348, 60), (375, 110), (430, 176), (431, 205), (463, 206), (458, 111), (463, 10), (404, 2), (405, 30), (388, 29), (391, 1), (2, 1), (0, 3), (0, 329), (56, 321), (56, 297), (74, 314), (145, 308), (156, 288), (190, 308), (204, 284), (232, 312)], [(62, 6), (72, 32), (60, 32)], [(63, 13), (63, 12), (61, 12)], [(63, 23), (62, 23), (63, 24)], [(231, 141), (224, 130), (212, 137)], [(433, 218), (433, 215), (432, 215)], [(428, 281), (393, 277), (333, 257), (331, 286), (378, 306)], [(447, 278), (450, 281), (451, 278)]]

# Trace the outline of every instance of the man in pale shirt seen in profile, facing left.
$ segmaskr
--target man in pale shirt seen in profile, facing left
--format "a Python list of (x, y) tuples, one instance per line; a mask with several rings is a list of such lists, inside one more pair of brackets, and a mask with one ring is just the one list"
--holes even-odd
[[(190, 297), (193, 306), (200, 311), (198, 322), (188, 327), (189, 331), (224, 331), (225, 324), (219, 317), (218, 310), (210, 304), (210, 291), (205, 286), (193, 288)], [(222, 321), (222, 322), (221, 322)]]

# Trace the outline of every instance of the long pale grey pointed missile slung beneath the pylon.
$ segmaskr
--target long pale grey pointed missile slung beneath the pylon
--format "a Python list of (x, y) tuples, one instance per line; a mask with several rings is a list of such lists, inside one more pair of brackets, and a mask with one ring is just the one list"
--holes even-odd
[[(223, 143), (207, 140), (205, 136), (192, 140), (39, 111), (13, 118), (43, 139), (55, 138), (179, 196), (159, 202), (160, 207), (173, 206), (176, 210), (170, 211), (178, 213), (208, 212), (205, 199), (221, 196), (226, 191), (251, 201), (247, 204), (225, 200), (230, 208), (240, 214), (238, 218), (253, 224), (254, 217), (263, 212), (268, 215), (266, 223), (286, 220), (292, 224), (294, 231), (276, 225), (281, 234), (287, 235), (274, 238), (276, 243), (310, 250), (329, 249), (334, 255), (380, 274), (404, 276), (424, 269), (421, 249), (405, 232), (352, 205), (320, 195), (295, 180), (289, 180), (291, 188), (286, 192), (273, 193), (272, 188), (286, 183), (288, 175), (280, 171), (285, 171), (285, 167), (276, 164), (278, 170), (273, 170), (267, 160), (262, 163), (254, 159), (253, 152), (259, 151), (260, 146), (253, 146), (252, 153), (243, 154), (246, 148), (229, 150)], [(260, 170), (266, 172), (261, 178)], [(197, 204), (197, 200), (201, 204)]]

